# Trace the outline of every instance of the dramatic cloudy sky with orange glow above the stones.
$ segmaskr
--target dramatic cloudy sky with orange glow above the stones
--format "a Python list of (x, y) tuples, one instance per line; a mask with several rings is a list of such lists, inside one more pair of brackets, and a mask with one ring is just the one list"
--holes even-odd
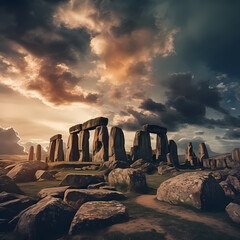
[(180, 153), (188, 141), (240, 147), (239, 9), (239, 0), (1, 0), (0, 147), (47, 146), (56, 133), (66, 142), (69, 127), (98, 116), (123, 128), (127, 150), (145, 123), (167, 127)]

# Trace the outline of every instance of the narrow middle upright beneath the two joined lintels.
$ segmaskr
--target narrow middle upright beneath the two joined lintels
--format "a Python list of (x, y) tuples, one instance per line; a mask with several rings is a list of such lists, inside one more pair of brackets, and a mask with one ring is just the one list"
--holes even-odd
[(83, 130), (79, 132), (78, 136), (78, 150), (79, 150), (79, 161), (89, 162), (89, 131)]

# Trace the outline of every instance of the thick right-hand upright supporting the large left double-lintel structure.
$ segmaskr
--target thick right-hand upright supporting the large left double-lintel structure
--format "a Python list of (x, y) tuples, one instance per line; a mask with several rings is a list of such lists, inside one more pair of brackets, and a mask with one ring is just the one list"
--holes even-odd
[(107, 127), (97, 127), (93, 139), (93, 162), (108, 161), (108, 139)]

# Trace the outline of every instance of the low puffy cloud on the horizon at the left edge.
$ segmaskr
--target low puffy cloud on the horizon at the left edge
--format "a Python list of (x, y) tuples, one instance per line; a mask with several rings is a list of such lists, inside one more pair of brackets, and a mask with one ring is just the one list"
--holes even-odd
[(0, 154), (24, 154), (19, 136), (13, 128), (0, 128)]

